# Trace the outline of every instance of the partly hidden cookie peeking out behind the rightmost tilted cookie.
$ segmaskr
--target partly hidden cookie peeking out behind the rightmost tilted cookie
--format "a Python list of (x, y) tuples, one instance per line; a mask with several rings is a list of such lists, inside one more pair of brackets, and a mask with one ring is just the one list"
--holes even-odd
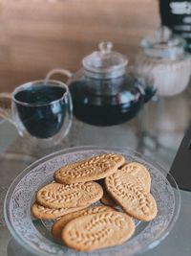
[(126, 175), (133, 175), (138, 183), (144, 190), (150, 192), (151, 189), (151, 176), (145, 166), (138, 162), (125, 163), (121, 168)]

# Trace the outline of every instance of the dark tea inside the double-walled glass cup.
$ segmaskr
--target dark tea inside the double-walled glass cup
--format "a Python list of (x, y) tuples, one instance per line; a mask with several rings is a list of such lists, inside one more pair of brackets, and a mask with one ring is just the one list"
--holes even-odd
[[(58, 86), (38, 85), (24, 88), (14, 96), (19, 118), (28, 132), (37, 138), (55, 135), (63, 125), (65, 103), (59, 100), (66, 92)], [(24, 104), (22, 104), (24, 103)], [(25, 105), (29, 104), (29, 105)]]

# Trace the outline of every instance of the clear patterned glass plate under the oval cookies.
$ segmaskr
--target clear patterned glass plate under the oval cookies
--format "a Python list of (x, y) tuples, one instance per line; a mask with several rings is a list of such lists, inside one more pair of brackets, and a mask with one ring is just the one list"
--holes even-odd
[[(32, 218), (31, 205), (35, 192), (53, 181), (53, 172), (62, 165), (81, 160), (102, 152), (122, 153), (129, 161), (144, 164), (152, 177), (151, 193), (158, 204), (158, 215), (153, 221), (136, 221), (134, 236), (126, 243), (91, 253), (75, 252), (53, 241), (51, 227), (53, 221)], [(180, 192), (171, 175), (153, 164), (138, 152), (98, 147), (80, 147), (50, 154), (29, 166), (12, 182), (6, 197), (5, 220), (14, 239), (36, 255), (135, 255), (153, 248), (170, 232), (180, 212)]]

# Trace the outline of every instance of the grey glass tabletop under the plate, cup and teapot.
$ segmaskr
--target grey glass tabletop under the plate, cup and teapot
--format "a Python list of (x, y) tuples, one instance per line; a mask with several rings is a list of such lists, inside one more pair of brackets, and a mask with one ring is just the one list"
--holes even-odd
[[(187, 97), (187, 94), (184, 94)], [(182, 95), (180, 96), (182, 98)], [(189, 105), (190, 97), (187, 99), (187, 104)], [(154, 103), (155, 104), (155, 103)], [(93, 127), (82, 122), (77, 121), (74, 118), (73, 126), (68, 134), (68, 136), (60, 142), (58, 146), (51, 149), (44, 149), (39, 151), (36, 148), (31, 148), (26, 144), (26, 140), (19, 137), (16, 128), (14, 128), (7, 121), (0, 122), (0, 185), (3, 188), (1, 191), (1, 197), (5, 197), (6, 190), (11, 184), (11, 181), (16, 175), (25, 169), (29, 164), (31, 164), (36, 159), (41, 158), (53, 151), (58, 151), (62, 149), (67, 149), (76, 146), (102, 146), (102, 147), (117, 147), (117, 148), (130, 148), (134, 151), (139, 151), (144, 155), (150, 157), (152, 160), (159, 163), (167, 172), (173, 163), (176, 152), (179, 149), (180, 141), (183, 137), (185, 128), (189, 123), (189, 113), (187, 115), (185, 106), (182, 106), (180, 101), (180, 107), (184, 114), (181, 117), (180, 126), (173, 126), (173, 122), (177, 122), (177, 117), (174, 116), (174, 120), (168, 119), (168, 115), (165, 116), (163, 122), (165, 121), (168, 126), (165, 129), (165, 122), (162, 124), (161, 132), (154, 132), (155, 137), (149, 134), (150, 130), (155, 130), (152, 128), (154, 122), (150, 122), (146, 119), (147, 114), (154, 107), (152, 104), (148, 109), (144, 110), (144, 113), (140, 113), (141, 118), (135, 118), (131, 122), (107, 128)], [(167, 107), (168, 108), (168, 107)], [(168, 108), (170, 109), (170, 108)], [(189, 111), (188, 107), (188, 111)], [(172, 116), (170, 114), (170, 116)], [(143, 117), (143, 118), (142, 118)], [(162, 117), (162, 115), (161, 115)], [(142, 125), (143, 121), (143, 125)], [(170, 123), (171, 122), (171, 123)], [(184, 122), (184, 123), (183, 123)], [(145, 128), (144, 125), (149, 124), (149, 128)], [(183, 124), (182, 124), (183, 123)], [(141, 127), (141, 128), (140, 128)], [(159, 128), (159, 127), (158, 127)], [(176, 129), (177, 128), (177, 129)], [(166, 132), (166, 133), (165, 133)], [(163, 137), (161, 137), (161, 135)], [(143, 137), (142, 137), (143, 136)], [(143, 139), (144, 138), (144, 139)], [(162, 143), (161, 143), (162, 142)], [(165, 142), (165, 143), (163, 143)], [(9, 167), (6, 165), (9, 163)], [(4, 170), (4, 172), (3, 172)], [(5, 175), (8, 174), (9, 175)], [(9, 176), (9, 178), (5, 178)], [(6, 184), (3, 184), (5, 181)], [(190, 256), (191, 254), (191, 192), (186, 192), (180, 190), (181, 197), (181, 207), (180, 207), (180, 217), (177, 221), (175, 227), (167, 238), (162, 241), (155, 248), (142, 253), (142, 256)], [(2, 209), (2, 205), (1, 205)], [(0, 256), (22, 256), (22, 255), (32, 255), (22, 246), (17, 244), (3, 220), (2, 214), (0, 215)]]

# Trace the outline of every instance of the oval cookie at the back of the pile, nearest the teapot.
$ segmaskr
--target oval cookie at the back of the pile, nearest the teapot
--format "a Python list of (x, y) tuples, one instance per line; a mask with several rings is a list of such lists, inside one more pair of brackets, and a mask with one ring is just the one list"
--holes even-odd
[(103, 153), (82, 161), (61, 167), (53, 178), (56, 182), (71, 184), (97, 180), (112, 175), (125, 162), (117, 153)]

